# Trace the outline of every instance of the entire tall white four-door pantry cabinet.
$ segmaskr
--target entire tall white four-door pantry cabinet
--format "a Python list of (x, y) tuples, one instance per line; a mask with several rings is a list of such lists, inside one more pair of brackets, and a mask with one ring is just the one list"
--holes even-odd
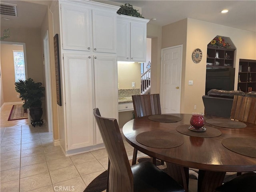
[(66, 155), (104, 146), (93, 108), (118, 119), (119, 8), (87, 0), (56, 1), (50, 7), (54, 34), (59, 34), (63, 102), (58, 122)]

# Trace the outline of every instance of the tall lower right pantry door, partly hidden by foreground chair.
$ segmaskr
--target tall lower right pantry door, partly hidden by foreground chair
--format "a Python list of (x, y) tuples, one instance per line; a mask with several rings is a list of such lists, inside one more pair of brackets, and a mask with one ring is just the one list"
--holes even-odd
[[(95, 107), (99, 108), (103, 117), (118, 119), (117, 79), (116, 57), (97, 56), (94, 58)], [(96, 144), (102, 142), (97, 127)]]

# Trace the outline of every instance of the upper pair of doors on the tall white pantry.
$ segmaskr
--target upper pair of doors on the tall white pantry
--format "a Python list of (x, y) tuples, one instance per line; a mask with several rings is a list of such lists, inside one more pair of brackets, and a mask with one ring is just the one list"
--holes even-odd
[(116, 53), (116, 11), (61, 4), (63, 49)]

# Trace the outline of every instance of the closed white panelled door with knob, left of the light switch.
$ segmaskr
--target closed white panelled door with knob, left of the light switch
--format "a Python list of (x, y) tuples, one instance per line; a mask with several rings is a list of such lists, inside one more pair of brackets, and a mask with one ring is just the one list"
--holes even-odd
[(182, 45), (164, 48), (161, 55), (161, 111), (180, 113)]

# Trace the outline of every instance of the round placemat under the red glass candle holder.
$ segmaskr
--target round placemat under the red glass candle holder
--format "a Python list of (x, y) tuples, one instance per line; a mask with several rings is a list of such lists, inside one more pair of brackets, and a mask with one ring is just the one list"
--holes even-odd
[(184, 135), (193, 136), (193, 137), (218, 137), (222, 132), (216, 128), (204, 126), (206, 131), (204, 132), (195, 132), (188, 129), (191, 125), (179, 125), (176, 127), (176, 130)]

